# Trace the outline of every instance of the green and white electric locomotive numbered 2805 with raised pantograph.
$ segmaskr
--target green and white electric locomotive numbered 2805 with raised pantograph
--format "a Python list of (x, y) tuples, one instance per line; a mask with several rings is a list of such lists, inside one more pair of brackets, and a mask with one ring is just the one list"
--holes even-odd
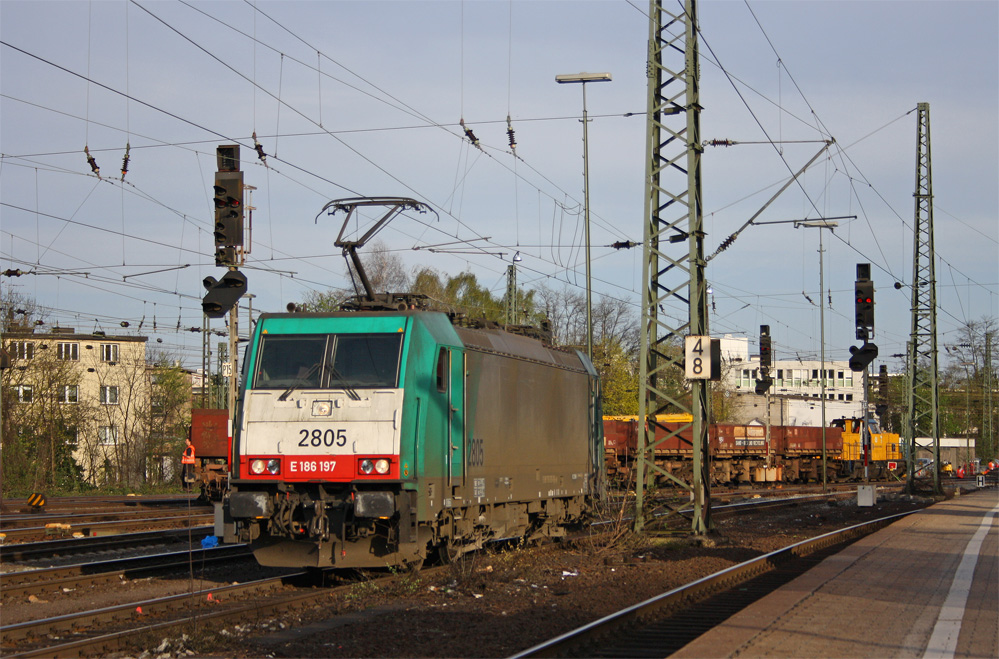
[[(349, 219), (386, 200), (335, 203)], [(347, 311), (257, 321), (223, 540), (263, 565), (384, 567), (582, 521), (603, 473), (586, 356), (362, 281)]]

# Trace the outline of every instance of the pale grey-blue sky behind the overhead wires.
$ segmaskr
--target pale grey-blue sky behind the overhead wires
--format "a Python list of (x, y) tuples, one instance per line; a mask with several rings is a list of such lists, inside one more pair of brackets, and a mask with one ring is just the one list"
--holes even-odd
[[(2, 0), (0, 271), (24, 274), (0, 286), (33, 299), (45, 327), (148, 336), (200, 366), (190, 329), (202, 326), (202, 280), (223, 272), (216, 147), (237, 143), (256, 188), (241, 268), (254, 314), (349, 285), (333, 245), (344, 216), (321, 209), (357, 196), (433, 209), (377, 236), (407, 268), (470, 271), (500, 297), (519, 252), (522, 287), (582, 292), (583, 96), (555, 76), (609, 72), (586, 89), (593, 291), (631, 303), (637, 322), (641, 249), (609, 246), (643, 239), (647, 11)], [(738, 142), (705, 148), (706, 253), (835, 140), (708, 264), (712, 335), (747, 337), (755, 352), (767, 324), (776, 359), (816, 359), (824, 303), (826, 358), (848, 359), (856, 266), (870, 263), (875, 368), (902, 370), (892, 355), (910, 332), (915, 109), (926, 102), (946, 363), (962, 325), (999, 316), (999, 3), (712, 0), (699, 12), (702, 138)], [(851, 219), (834, 231), (785, 222), (819, 217)]]

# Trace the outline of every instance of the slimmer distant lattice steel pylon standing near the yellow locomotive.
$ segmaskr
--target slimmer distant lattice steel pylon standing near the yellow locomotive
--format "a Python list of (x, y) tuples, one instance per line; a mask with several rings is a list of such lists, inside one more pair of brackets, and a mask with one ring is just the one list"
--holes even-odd
[(915, 478), (916, 438), (933, 441), (933, 490), (940, 492), (940, 419), (937, 386), (937, 279), (933, 251), (933, 177), (930, 166), (930, 104), (916, 105), (916, 214), (912, 252), (912, 332), (909, 336), (909, 423), (906, 487)]

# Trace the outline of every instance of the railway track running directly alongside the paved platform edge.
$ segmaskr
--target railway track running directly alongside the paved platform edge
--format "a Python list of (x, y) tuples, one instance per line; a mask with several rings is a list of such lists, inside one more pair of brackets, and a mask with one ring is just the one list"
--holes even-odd
[(664, 657), (844, 545), (911, 513), (799, 542), (673, 589), (515, 657)]

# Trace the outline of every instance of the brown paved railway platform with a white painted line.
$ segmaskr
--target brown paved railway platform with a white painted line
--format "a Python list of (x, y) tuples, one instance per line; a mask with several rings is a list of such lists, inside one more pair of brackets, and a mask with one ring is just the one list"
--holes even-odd
[(999, 657), (999, 492), (909, 515), (671, 657)]

